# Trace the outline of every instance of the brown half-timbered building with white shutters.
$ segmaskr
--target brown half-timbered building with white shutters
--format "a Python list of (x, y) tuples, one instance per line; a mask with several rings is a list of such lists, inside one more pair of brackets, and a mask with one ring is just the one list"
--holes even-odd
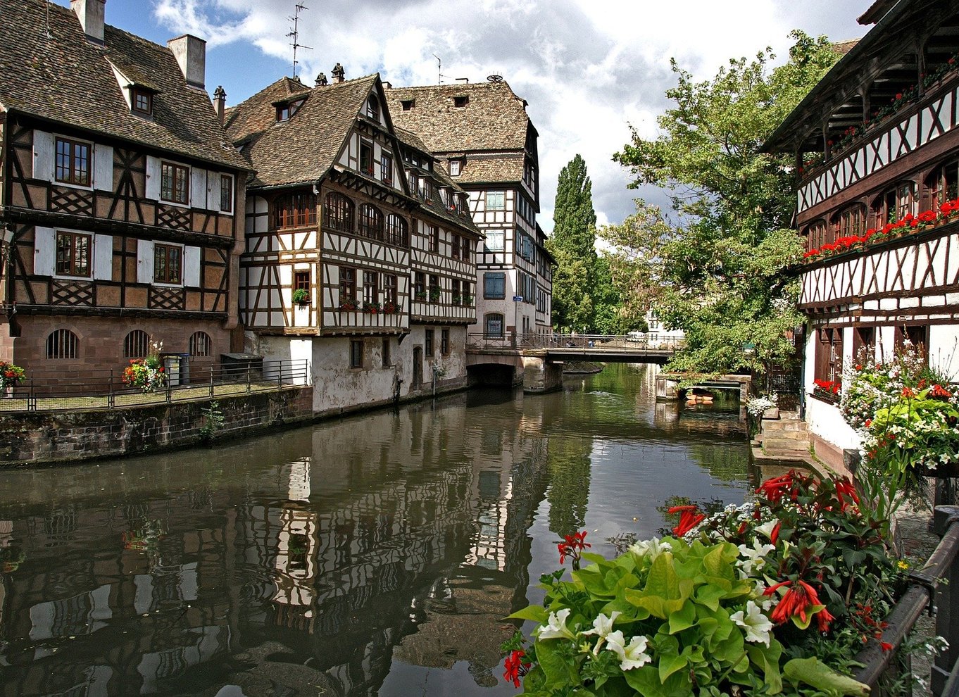
[(201, 39), (160, 46), (105, 25), (104, 0), (72, 7), (0, 0), (0, 354), (78, 381), (155, 341), (202, 372), (235, 348), (248, 164)]

